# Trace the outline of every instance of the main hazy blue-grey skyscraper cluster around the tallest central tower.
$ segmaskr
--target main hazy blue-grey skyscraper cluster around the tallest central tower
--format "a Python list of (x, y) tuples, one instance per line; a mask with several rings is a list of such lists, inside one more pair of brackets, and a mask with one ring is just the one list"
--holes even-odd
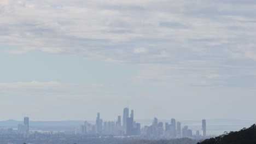
[(200, 130), (197, 130), (195, 135), (193, 131), (184, 125), (182, 128), (181, 122), (176, 122), (172, 118), (171, 123), (158, 122), (158, 118), (154, 118), (152, 125), (144, 125), (141, 128), (140, 123), (136, 123), (133, 117), (133, 110), (129, 115), (129, 108), (125, 107), (123, 112), (123, 123), (121, 116), (118, 116), (116, 122), (103, 122), (100, 118), (100, 113), (97, 114), (96, 123), (90, 124), (85, 121), (75, 130), (75, 134), (80, 135), (96, 135), (96, 136), (142, 136), (151, 138), (166, 138), (176, 139), (182, 137), (206, 137), (206, 120), (202, 120), (202, 135)]

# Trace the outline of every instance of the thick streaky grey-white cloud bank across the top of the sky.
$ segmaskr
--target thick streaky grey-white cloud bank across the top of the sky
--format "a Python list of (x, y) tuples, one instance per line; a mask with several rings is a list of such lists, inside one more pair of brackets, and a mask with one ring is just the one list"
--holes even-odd
[[(255, 4), (4, 0), (0, 2), (0, 44), (18, 46), (10, 54), (65, 53), (112, 63), (179, 65), (198, 71), (205, 70), (205, 63), (197, 63), (204, 61), (211, 70), (195, 77), (206, 79), (211, 74), (226, 75), (225, 68), (218, 65), (252, 67), (255, 51), (248, 44), (255, 45)], [(161, 71), (165, 67), (158, 73)], [(242, 75), (235, 71), (229, 72)], [(160, 79), (157, 73), (150, 77)]]

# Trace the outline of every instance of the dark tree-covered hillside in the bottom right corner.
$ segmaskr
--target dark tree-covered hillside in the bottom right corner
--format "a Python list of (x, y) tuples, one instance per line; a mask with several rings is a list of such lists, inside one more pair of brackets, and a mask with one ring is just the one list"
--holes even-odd
[(207, 139), (197, 144), (256, 144), (256, 125), (243, 128), (240, 131), (231, 131), (215, 138)]

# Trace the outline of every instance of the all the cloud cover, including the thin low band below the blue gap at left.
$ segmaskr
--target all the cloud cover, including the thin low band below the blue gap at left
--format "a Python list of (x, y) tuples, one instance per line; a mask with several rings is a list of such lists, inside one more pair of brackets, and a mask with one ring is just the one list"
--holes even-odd
[[(154, 104), (153, 94), (161, 93), (165, 95), (161, 99), (170, 100), (169, 93), (179, 95), (183, 89), (193, 88), (197, 89), (191, 90), (194, 95), (201, 92), (199, 99), (218, 88), (227, 99), (232, 95), (232, 88), (236, 89), (236, 98), (246, 93), (251, 97), (256, 86), (255, 13), (256, 2), (250, 0), (2, 0), (0, 46), (14, 47), (0, 49), (0, 53), (21, 56), (40, 51), (117, 65), (137, 65), (139, 70), (135, 76), (119, 80), (116, 74), (113, 81), (104, 82), (109, 84), (107, 90), (95, 94), (112, 95), (113, 99), (119, 98), (119, 104), (137, 97), (141, 100), (148, 97), (149, 103), (151, 99)], [(129, 70), (121, 72), (129, 73)], [(92, 76), (95, 75), (92, 73)], [(99, 78), (95, 76), (95, 79)], [(2, 82), (0, 94), (16, 91), (24, 95), (44, 95), (46, 92), (51, 96), (80, 97), (86, 95), (87, 91), (81, 90), (86, 87), (91, 85), (78, 85), (73, 81)], [(94, 93), (89, 94), (94, 99)], [(189, 93), (184, 93), (187, 94), (184, 99), (190, 98)], [(109, 103), (113, 104), (113, 99)], [(156, 107), (161, 109), (162, 101), (158, 102)], [(196, 101), (186, 104), (193, 106)], [(223, 107), (224, 104), (219, 109)], [(165, 108), (162, 109), (169, 109)], [(233, 114), (230, 115), (236, 115)]]

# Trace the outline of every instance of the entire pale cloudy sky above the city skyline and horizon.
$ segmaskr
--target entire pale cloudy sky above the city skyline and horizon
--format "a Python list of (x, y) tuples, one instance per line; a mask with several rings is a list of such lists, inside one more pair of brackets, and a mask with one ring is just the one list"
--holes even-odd
[(1, 0), (0, 120), (256, 120), (256, 1)]

